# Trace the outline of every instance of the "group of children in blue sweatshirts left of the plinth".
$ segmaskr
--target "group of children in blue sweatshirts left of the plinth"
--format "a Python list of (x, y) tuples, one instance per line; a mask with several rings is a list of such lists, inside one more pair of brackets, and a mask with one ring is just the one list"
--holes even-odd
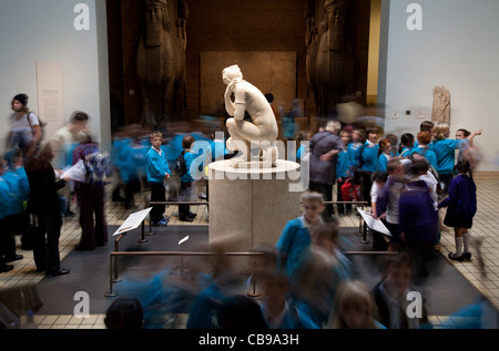
[[(169, 218), (164, 216), (166, 206), (162, 204), (166, 202), (166, 197), (169, 200), (189, 203), (196, 193), (195, 174), (191, 172), (191, 165), (200, 156), (191, 152), (195, 141), (203, 141), (205, 142), (203, 146), (210, 146), (212, 159), (217, 159), (217, 156), (224, 157), (225, 147), (222, 146), (222, 155), (217, 155), (221, 147), (215, 144), (220, 142), (201, 133), (177, 134), (166, 142), (161, 132), (153, 132), (147, 138), (143, 138), (141, 130), (133, 127), (123, 135), (116, 135), (112, 159), (118, 169), (120, 186), (114, 188), (112, 199), (124, 202), (125, 209), (134, 209), (134, 194), (140, 192), (142, 186), (149, 187), (153, 203), (152, 225), (166, 226), (169, 223)], [(203, 172), (204, 166), (204, 163), (200, 163), (196, 172)], [(179, 184), (170, 182), (174, 175), (179, 177)], [(125, 195), (124, 198), (121, 196), (121, 189)], [(196, 214), (191, 211), (190, 205), (179, 205), (180, 220), (193, 221), (195, 217)]]

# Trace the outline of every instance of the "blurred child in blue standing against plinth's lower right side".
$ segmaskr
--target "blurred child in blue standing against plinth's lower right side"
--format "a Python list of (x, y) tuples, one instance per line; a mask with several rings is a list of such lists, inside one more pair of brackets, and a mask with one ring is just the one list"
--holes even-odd
[(324, 197), (319, 193), (306, 192), (302, 195), (304, 214), (286, 223), (276, 244), (277, 268), (283, 270), (292, 281), (296, 269), (301, 267), (304, 254), (312, 242), (312, 230), (323, 223)]

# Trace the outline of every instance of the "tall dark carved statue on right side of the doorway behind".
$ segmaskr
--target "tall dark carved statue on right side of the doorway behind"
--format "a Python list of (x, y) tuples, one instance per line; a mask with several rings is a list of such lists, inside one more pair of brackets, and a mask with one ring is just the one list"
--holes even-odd
[(315, 0), (308, 0), (307, 82), (316, 114), (328, 116), (344, 95), (354, 92), (354, 51), (348, 31), (350, 0), (324, 0), (325, 17), (315, 27)]

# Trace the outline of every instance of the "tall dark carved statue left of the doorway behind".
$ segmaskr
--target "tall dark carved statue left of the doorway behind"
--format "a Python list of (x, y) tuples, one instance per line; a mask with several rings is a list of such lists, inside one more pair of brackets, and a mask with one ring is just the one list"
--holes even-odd
[[(166, 0), (145, 1), (145, 32), (138, 49), (142, 120), (162, 128), (179, 121), (186, 107), (185, 23), (189, 8), (177, 0), (176, 18), (170, 19)], [(176, 24), (175, 24), (176, 23)]]

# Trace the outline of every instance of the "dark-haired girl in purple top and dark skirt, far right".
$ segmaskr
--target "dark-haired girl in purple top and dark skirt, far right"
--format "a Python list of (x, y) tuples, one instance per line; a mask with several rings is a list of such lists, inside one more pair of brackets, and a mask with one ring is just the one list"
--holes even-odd
[(449, 252), (448, 257), (462, 261), (471, 258), (469, 229), (477, 213), (477, 186), (470, 176), (469, 161), (458, 161), (456, 169), (458, 175), (450, 180), (449, 195), (438, 204), (438, 208), (447, 207), (444, 224), (454, 227), (456, 252)]

